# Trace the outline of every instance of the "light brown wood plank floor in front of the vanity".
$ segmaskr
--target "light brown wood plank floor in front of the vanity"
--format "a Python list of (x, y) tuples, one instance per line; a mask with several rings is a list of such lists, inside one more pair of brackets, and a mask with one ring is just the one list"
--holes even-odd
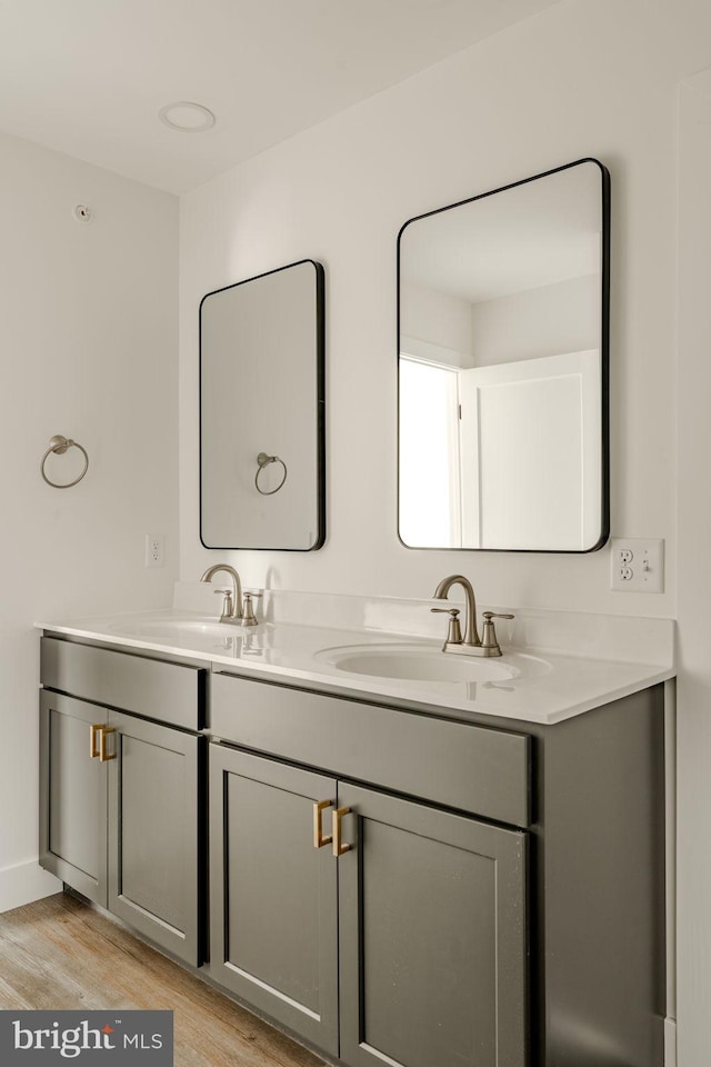
[(0, 1008), (162, 1008), (174, 1013), (174, 1067), (323, 1067), (67, 894), (0, 915)]

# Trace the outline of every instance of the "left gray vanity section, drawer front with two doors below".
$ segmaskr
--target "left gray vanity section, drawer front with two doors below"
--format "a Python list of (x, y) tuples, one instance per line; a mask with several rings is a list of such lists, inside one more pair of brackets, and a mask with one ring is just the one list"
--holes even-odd
[(41, 658), (40, 865), (198, 966), (204, 671), (47, 637)]

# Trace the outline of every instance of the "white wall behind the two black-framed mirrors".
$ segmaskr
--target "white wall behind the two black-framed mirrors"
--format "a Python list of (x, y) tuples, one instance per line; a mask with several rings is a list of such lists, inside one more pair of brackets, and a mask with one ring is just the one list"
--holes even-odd
[[(181, 572), (427, 596), (463, 569), (484, 602), (672, 616), (675, 86), (711, 50), (704, 0), (569, 0), (181, 200)], [(612, 172), (612, 529), (667, 540), (667, 591), (611, 592), (609, 551), (409, 551), (395, 531), (395, 240), (402, 223), (583, 156)], [(304, 256), (327, 270), (328, 540), (198, 540), (198, 302)]]

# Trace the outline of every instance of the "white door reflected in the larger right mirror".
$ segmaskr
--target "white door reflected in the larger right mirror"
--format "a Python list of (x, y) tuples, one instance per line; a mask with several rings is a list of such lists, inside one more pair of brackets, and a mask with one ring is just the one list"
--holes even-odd
[(583, 551), (594, 544), (598, 366), (591, 349), (460, 372), (462, 485), (470, 487), (462, 545)]

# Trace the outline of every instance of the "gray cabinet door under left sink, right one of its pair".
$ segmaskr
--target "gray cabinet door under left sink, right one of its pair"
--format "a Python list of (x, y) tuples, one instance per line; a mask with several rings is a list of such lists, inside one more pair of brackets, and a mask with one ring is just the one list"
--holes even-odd
[(108, 906), (192, 966), (199, 957), (202, 738), (111, 711)]

